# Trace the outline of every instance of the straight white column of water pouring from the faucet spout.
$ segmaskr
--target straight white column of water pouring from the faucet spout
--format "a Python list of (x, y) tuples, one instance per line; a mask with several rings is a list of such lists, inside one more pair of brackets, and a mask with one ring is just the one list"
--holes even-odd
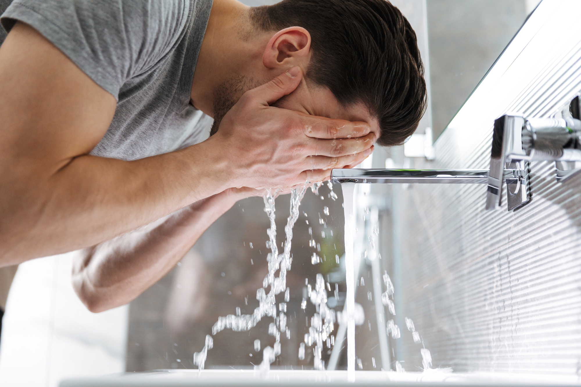
[(343, 207), (345, 210), (345, 271), (347, 282), (347, 380), (355, 381), (355, 268), (353, 264), (353, 234), (355, 217), (353, 213), (353, 191), (355, 183), (342, 183)]

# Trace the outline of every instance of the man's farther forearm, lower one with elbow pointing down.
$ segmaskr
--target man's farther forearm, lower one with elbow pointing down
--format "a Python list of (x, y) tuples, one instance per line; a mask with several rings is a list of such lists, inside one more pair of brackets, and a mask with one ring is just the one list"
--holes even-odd
[(141, 230), (81, 250), (73, 268), (77, 295), (94, 312), (135, 299), (166, 275), (236, 199), (212, 196)]

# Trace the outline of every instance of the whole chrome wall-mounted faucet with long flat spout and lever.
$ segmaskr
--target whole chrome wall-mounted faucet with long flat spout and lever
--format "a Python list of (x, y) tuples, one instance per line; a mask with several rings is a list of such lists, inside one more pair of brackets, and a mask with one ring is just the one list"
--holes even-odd
[(333, 169), (331, 182), (487, 184), (486, 210), (498, 209), (503, 181), (509, 211), (530, 202), (529, 162), (554, 161), (555, 178), (564, 182), (581, 172), (579, 98), (562, 118), (525, 118), (505, 114), (494, 120), (490, 169)]

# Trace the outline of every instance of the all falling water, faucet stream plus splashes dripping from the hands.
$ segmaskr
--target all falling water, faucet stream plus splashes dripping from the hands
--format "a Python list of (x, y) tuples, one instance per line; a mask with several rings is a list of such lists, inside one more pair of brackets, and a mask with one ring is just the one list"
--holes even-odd
[[(250, 328), (255, 327), (258, 322), (265, 316), (272, 317), (273, 322), (270, 323), (268, 327), (268, 334), (274, 336), (275, 343), (273, 347), (266, 346), (263, 349), (263, 360), (259, 366), (254, 366), (256, 369), (261, 371), (261, 374), (265, 374), (270, 370), (270, 365), (275, 358), (281, 354), (281, 333), (286, 333), (286, 338), (290, 339), (290, 331), (289, 328), (286, 326), (286, 303), (289, 302), (289, 288), (286, 286), (286, 272), (290, 270), (290, 266), (292, 264), (292, 255), (290, 255), (290, 248), (291, 242), (293, 238), (293, 227), (296, 223), (297, 218), (299, 217), (299, 205), (301, 200), (303, 199), (304, 193), (306, 193), (307, 187), (309, 187), (309, 182), (306, 182), (301, 187), (297, 187), (292, 189), (290, 193), (290, 214), (286, 221), (285, 225), (285, 234), (286, 239), (283, 243), (283, 251), (279, 254), (278, 246), (277, 246), (277, 226), (275, 223), (275, 199), (277, 198), (278, 194), (280, 193), (279, 189), (267, 190), (267, 194), (264, 195), (264, 211), (267, 213), (267, 216), (270, 220), (270, 228), (267, 230), (267, 234), (269, 236), (269, 241), (266, 242), (267, 248), (271, 249), (271, 252), (268, 253), (267, 262), (268, 262), (268, 274), (263, 279), (263, 286), (256, 291), (256, 299), (259, 300), (259, 306), (254, 309), (253, 314), (242, 314), (240, 313), (240, 308), (236, 308), (236, 315), (228, 314), (225, 317), (218, 317), (218, 321), (212, 327), (212, 335), (216, 335), (218, 332), (223, 331), (223, 329), (229, 328), (236, 332), (241, 331), (249, 331)], [(314, 183), (311, 186), (311, 190), (317, 196), (319, 196), (318, 188), (320, 188), (322, 182)], [(332, 185), (329, 183), (329, 189), (331, 192), (329, 193), (329, 198), (335, 200), (336, 195), (332, 191)], [(354, 260), (355, 260), (355, 253), (354, 249), (356, 246), (354, 245), (355, 235), (356, 235), (356, 211), (355, 211), (355, 203), (354, 203), (354, 189), (355, 183), (353, 182), (345, 182), (341, 184), (341, 188), (343, 191), (343, 208), (345, 212), (345, 271), (346, 271), (346, 285), (347, 285), (347, 293), (345, 298), (345, 308), (343, 309), (343, 313), (341, 314), (341, 321), (347, 322), (347, 381), (354, 382), (355, 381), (355, 363), (356, 360), (358, 362), (358, 366), (361, 366), (361, 359), (357, 359), (355, 356), (355, 325), (357, 320), (361, 320), (358, 316), (361, 314), (363, 316), (363, 308), (357, 304), (358, 308), (361, 309), (361, 313), (356, 315), (356, 303), (355, 303), (355, 267), (354, 267)], [(323, 199), (323, 196), (321, 196)], [(325, 207), (324, 213), (328, 215), (328, 209)], [(308, 224), (308, 223), (307, 223)], [(375, 231), (374, 231), (375, 232)], [(309, 241), (309, 246), (315, 247), (315, 241), (312, 236), (312, 232), (309, 228), (309, 234), (311, 237), (311, 241)], [(324, 234), (323, 234), (324, 237)], [(371, 241), (371, 239), (370, 239)], [(370, 248), (374, 249), (374, 243), (370, 242)], [(318, 243), (317, 243), (318, 248)], [(367, 256), (367, 250), (365, 250)], [(313, 253), (314, 257), (317, 257), (317, 260), (311, 261), (313, 264), (320, 263), (319, 257), (316, 253)], [(336, 257), (338, 259), (338, 256)], [(376, 269), (378, 270), (378, 269)], [(278, 276), (275, 275), (277, 274)], [(379, 273), (377, 273), (379, 275)], [(375, 277), (375, 274), (374, 274)], [(377, 278), (379, 281), (379, 277)], [(312, 289), (310, 284), (307, 284), (308, 279), (306, 279), (305, 285), (307, 285), (307, 297), (310, 299), (311, 303), (314, 304), (316, 308), (316, 313), (311, 318), (311, 326), (309, 327), (309, 333), (304, 335), (304, 343), (300, 343), (299, 347), (299, 359), (305, 359), (306, 353), (306, 346), (315, 345), (313, 349), (313, 366), (315, 370), (325, 370), (325, 361), (322, 360), (322, 350), (324, 345), (326, 344), (329, 349), (331, 347), (335, 347), (335, 337), (331, 335), (333, 331), (334, 324), (336, 322), (336, 313), (335, 310), (329, 308), (327, 306), (327, 290), (325, 289), (325, 280), (322, 274), (317, 274), (317, 278), (315, 281), (315, 288)], [(383, 306), (387, 306), (389, 309), (389, 313), (393, 316), (395, 313), (395, 305), (390, 296), (393, 297), (394, 293), (394, 286), (392, 284), (389, 275), (385, 272), (383, 274), (383, 282), (385, 282), (386, 291), (381, 294), (381, 302)], [(358, 282), (359, 284), (359, 282)], [(267, 293), (266, 289), (270, 286), (270, 291)], [(336, 285), (335, 285), (336, 286)], [(361, 277), (361, 286), (363, 286), (363, 277)], [(329, 291), (331, 291), (331, 285), (327, 283)], [(337, 289), (337, 288), (336, 288)], [(275, 296), (279, 295), (280, 293), (284, 292), (284, 302), (279, 304), (280, 313), (277, 314), (277, 300)], [(381, 292), (381, 289), (379, 290)], [(369, 297), (369, 295), (368, 295)], [(335, 298), (338, 298), (335, 295)], [(306, 308), (307, 300), (303, 298), (302, 308), (303, 310)], [(363, 317), (361, 317), (363, 318)], [(307, 320), (306, 320), (307, 321)], [(381, 327), (379, 320), (378, 325)], [(362, 324), (363, 321), (357, 322), (357, 324)], [(339, 342), (343, 341), (345, 338), (345, 322), (341, 322), (343, 328), (339, 329), (337, 338)], [(424, 346), (424, 341), (421, 339), (421, 336), (417, 331), (415, 331), (414, 322), (406, 317), (406, 325), (408, 330), (412, 333), (414, 343), (421, 343), (423, 348), (421, 349), (422, 355), (422, 368), (424, 371), (428, 371), (431, 369), (432, 366), (432, 358), (431, 354), (428, 349)], [(385, 328), (379, 329), (386, 329), (386, 333), (392, 336), (392, 339), (400, 338), (400, 328), (394, 323), (394, 320), (387, 321), (387, 324), (384, 325)], [(370, 328), (371, 329), (371, 328)], [(213, 346), (213, 339), (210, 335), (206, 336), (206, 343), (203, 347), (201, 352), (196, 352), (193, 355), (193, 363), (199, 366), (199, 370), (203, 370), (205, 366), (205, 361), (207, 357), (207, 352)], [(260, 351), (260, 341), (254, 342), (254, 348), (258, 352)], [(333, 350), (334, 354), (335, 350)], [(331, 356), (332, 358), (332, 356)], [(329, 359), (330, 364), (329, 367), (331, 369), (335, 369), (336, 360)], [(372, 362), (375, 367), (375, 359), (372, 358)], [(398, 372), (404, 372), (404, 368), (401, 366), (399, 361), (395, 361), (395, 368)], [(382, 368), (383, 370), (383, 368)], [(389, 370), (389, 368), (388, 368)]]

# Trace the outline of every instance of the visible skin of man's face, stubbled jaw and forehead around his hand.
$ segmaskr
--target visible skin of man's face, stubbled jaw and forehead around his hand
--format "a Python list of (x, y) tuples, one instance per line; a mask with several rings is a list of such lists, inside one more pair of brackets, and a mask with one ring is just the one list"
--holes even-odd
[[(228, 110), (238, 102), (242, 94), (267, 83), (267, 81), (267, 79), (259, 81), (238, 74), (221, 84), (214, 95), (214, 124), (210, 135), (218, 131), (220, 121)], [(363, 103), (343, 107), (328, 88), (309, 85), (304, 77), (295, 91), (282, 97), (273, 103), (272, 106), (295, 110), (312, 116), (367, 122), (371, 126), (371, 131), (379, 138), (379, 123), (371, 116)]]

